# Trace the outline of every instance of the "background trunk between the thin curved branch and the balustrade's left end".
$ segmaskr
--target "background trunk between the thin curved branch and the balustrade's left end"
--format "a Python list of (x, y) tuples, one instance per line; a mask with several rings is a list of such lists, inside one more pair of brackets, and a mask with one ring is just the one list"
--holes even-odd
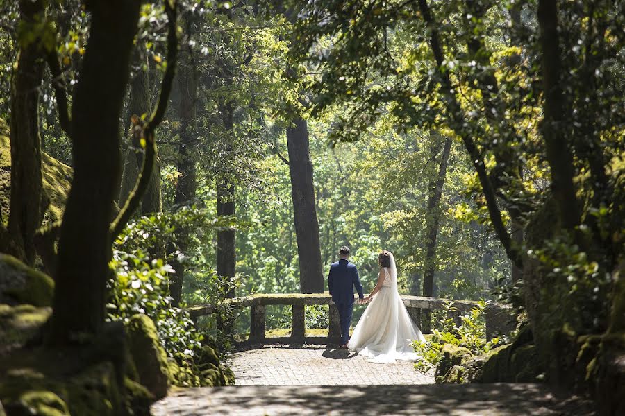
[[(195, 139), (195, 118), (197, 114), (197, 68), (190, 48), (181, 49), (181, 60), (177, 75), (178, 89), (178, 120), (181, 123), (180, 144), (178, 145), (178, 172), (181, 177), (176, 184), (174, 205), (183, 207), (191, 205), (197, 189), (195, 160), (192, 142)], [(180, 229), (176, 234), (178, 250), (185, 252), (189, 245), (189, 230)], [(174, 299), (173, 304), (180, 304), (182, 297), (185, 265), (178, 259), (172, 262), (176, 271), (169, 281), (169, 293)]]

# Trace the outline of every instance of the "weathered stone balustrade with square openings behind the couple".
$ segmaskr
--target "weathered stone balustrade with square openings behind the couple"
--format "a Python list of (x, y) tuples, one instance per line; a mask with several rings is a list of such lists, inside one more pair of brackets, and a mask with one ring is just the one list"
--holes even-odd
[[(460, 324), (460, 316), (468, 313), (477, 302), (469, 300), (445, 300), (435, 297), (402, 295), (403, 304), (406, 305), (412, 319), (419, 324), (424, 333), (430, 332), (429, 313), (442, 309), (445, 302), (453, 302), (456, 308), (456, 322)], [(235, 297), (224, 300), (224, 304), (235, 309), (250, 309), (250, 333), (251, 343), (335, 343), (340, 339), (340, 319), (338, 309), (329, 293), (261, 293), (245, 297)], [(268, 305), (290, 305), (292, 307), (292, 331), (290, 337), (266, 336), (265, 316)], [(306, 306), (328, 305), (329, 328), (328, 337), (306, 336)], [(200, 316), (210, 315), (215, 310), (213, 304), (201, 304), (190, 306), (187, 309), (193, 320)], [(426, 318), (427, 317), (427, 318)], [(490, 319), (492, 317), (492, 319)], [(492, 322), (489, 322), (491, 320)], [(514, 328), (514, 317), (510, 309), (497, 304), (490, 304), (486, 311), (487, 336), (494, 333), (507, 332)]]

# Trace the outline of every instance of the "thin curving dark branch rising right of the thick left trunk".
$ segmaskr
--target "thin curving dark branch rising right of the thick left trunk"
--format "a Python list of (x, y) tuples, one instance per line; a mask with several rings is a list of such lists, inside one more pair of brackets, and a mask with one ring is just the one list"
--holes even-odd
[(122, 232), (122, 229), (126, 227), (126, 223), (130, 220), (133, 212), (139, 207), (139, 203), (150, 183), (150, 177), (154, 170), (154, 163), (156, 162), (156, 140), (154, 133), (156, 128), (158, 128), (158, 125), (160, 125), (161, 121), (163, 121), (165, 110), (167, 110), (169, 94), (171, 94), (172, 86), (174, 85), (176, 62), (178, 60), (178, 35), (176, 34), (176, 30), (178, 28), (177, 8), (178, 2), (176, 0), (165, 0), (165, 12), (167, 12), (168, 18), (167, 26), (169, 27), (169, 31), (167, 33), (167, 60), (165, 61), (167, 67), (165, 68), (163, 83), (161, 83), (160, 96), (158, 97), (156, 110), (154, 110), (149, 121), (142, 129), (143, 139), (145, 140), (145, 157), (143, 158), (141, 173), (139, 174), (135, 188), (126, 200), (124, 207), (121, 211), (119, 211), (117, 218), (115, 218), (113, 223), (110, 225), (110, 232), (113, 238)]

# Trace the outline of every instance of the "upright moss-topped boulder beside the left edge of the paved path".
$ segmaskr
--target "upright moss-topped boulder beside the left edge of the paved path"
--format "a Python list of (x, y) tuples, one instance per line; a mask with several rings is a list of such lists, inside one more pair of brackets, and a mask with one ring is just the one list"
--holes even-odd
[(126, 334), (138, 381), (157, 399), (165, 397), (172, 375), (167, 355), (158, 340), (156, 325), (147, 315), (139, 313), (126, 322)]

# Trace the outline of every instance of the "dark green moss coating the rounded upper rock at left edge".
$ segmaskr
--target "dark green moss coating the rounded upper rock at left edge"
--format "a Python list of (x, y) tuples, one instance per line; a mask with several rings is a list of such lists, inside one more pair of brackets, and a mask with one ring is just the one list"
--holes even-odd
[(26, 266), (22, 261), (9, 254), (0, 253), (0, 263), (3, 263), (3, 272), (19, 275), (26, 281), (22, 287), (7, 289), (6, 295), (19, 303), (52, 306), (54, 281), (51, 277)]

